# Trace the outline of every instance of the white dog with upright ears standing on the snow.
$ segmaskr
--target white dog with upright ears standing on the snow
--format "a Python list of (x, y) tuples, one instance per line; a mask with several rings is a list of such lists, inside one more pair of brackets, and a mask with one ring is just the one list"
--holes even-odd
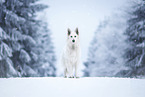
[(78, 78), (78, 65), (80, 59), (80, 46), (79, 46), (79, 31), (76, 28), (75, 32), (71, 32), (68, 29), (67, 32), (67, 44), (64, 48), (62, 55), (62, 64), (64, 66), (64, 77), (67, 76), (74, 78), (74, 69), (75, 77)]

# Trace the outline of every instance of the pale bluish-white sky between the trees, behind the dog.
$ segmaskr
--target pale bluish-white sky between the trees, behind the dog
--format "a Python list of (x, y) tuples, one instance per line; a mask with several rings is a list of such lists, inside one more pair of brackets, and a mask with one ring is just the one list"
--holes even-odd
[[(57, 59), (66, 42), (67, 28), (78, 27), (82, 62), (87, 59), (88, 47), (100, 21), (125, 5), (127, 0), (43, 0), (49, 8), (43, 18), (49, 24)], [(42, 2), (42, 1), (41, 1)]]

